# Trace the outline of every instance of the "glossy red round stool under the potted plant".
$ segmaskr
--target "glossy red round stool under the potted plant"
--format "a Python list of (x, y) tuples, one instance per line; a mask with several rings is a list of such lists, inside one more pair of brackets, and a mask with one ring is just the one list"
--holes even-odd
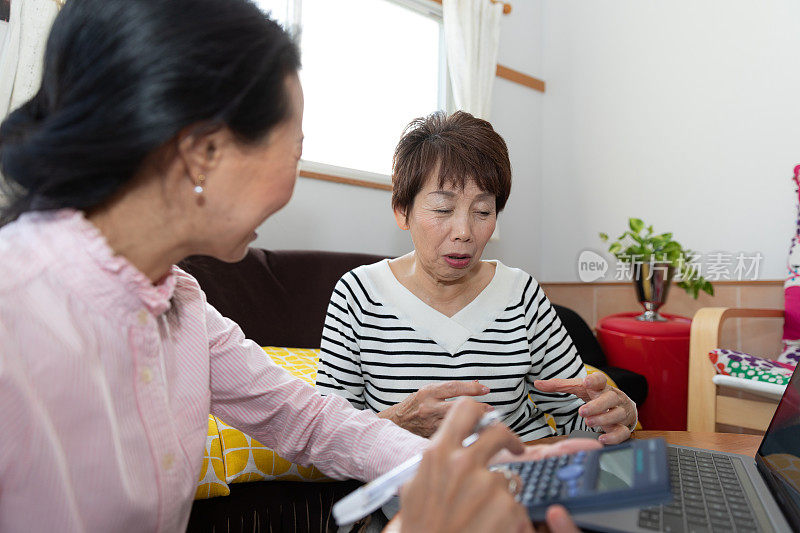
[(640, 314), (620, 313), (600, 319), (597, 340), (609, 365), (647, 379), (647, 399), (639, 406), (642, 427), (686, 430), (692, 320), (661, 313), (666, 322), (642, 322), (636, 320)]

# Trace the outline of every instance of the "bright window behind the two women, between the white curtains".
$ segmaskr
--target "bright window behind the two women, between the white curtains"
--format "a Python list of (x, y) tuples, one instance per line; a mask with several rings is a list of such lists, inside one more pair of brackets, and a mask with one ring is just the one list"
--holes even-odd
[(388, 183), (408, 123), (444, 109), (441, 6), (430, 0), (259, 0), (301, 28), (301, 168)]

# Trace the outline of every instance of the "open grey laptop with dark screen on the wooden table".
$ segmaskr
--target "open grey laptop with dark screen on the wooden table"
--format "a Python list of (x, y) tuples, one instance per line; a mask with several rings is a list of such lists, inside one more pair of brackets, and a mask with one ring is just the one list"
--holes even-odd
[(673, 500), (574, 515), (603, 532), (800, 532), (800, 372), (795, 370), (755, 457), (668, 447)]

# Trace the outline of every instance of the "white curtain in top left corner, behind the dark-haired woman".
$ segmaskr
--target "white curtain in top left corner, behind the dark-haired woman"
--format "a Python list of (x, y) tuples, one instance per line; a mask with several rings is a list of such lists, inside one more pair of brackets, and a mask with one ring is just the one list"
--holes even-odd
[(58, 8), (56, 0), (11, 0), (11, 16), (0, 47), (0, 118), (39, 89), (47, 35)]

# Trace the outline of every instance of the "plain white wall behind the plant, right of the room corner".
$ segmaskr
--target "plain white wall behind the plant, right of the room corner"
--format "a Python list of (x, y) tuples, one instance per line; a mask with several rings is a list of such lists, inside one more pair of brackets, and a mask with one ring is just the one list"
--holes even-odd
[[(515, 2), (514, 8), (522, 2)], [(800, 3), (542, 0), (540, 279), (629, 216), (784, 275), (800, 163)], [(611, 272), (613, 274), (613, 272)]]

